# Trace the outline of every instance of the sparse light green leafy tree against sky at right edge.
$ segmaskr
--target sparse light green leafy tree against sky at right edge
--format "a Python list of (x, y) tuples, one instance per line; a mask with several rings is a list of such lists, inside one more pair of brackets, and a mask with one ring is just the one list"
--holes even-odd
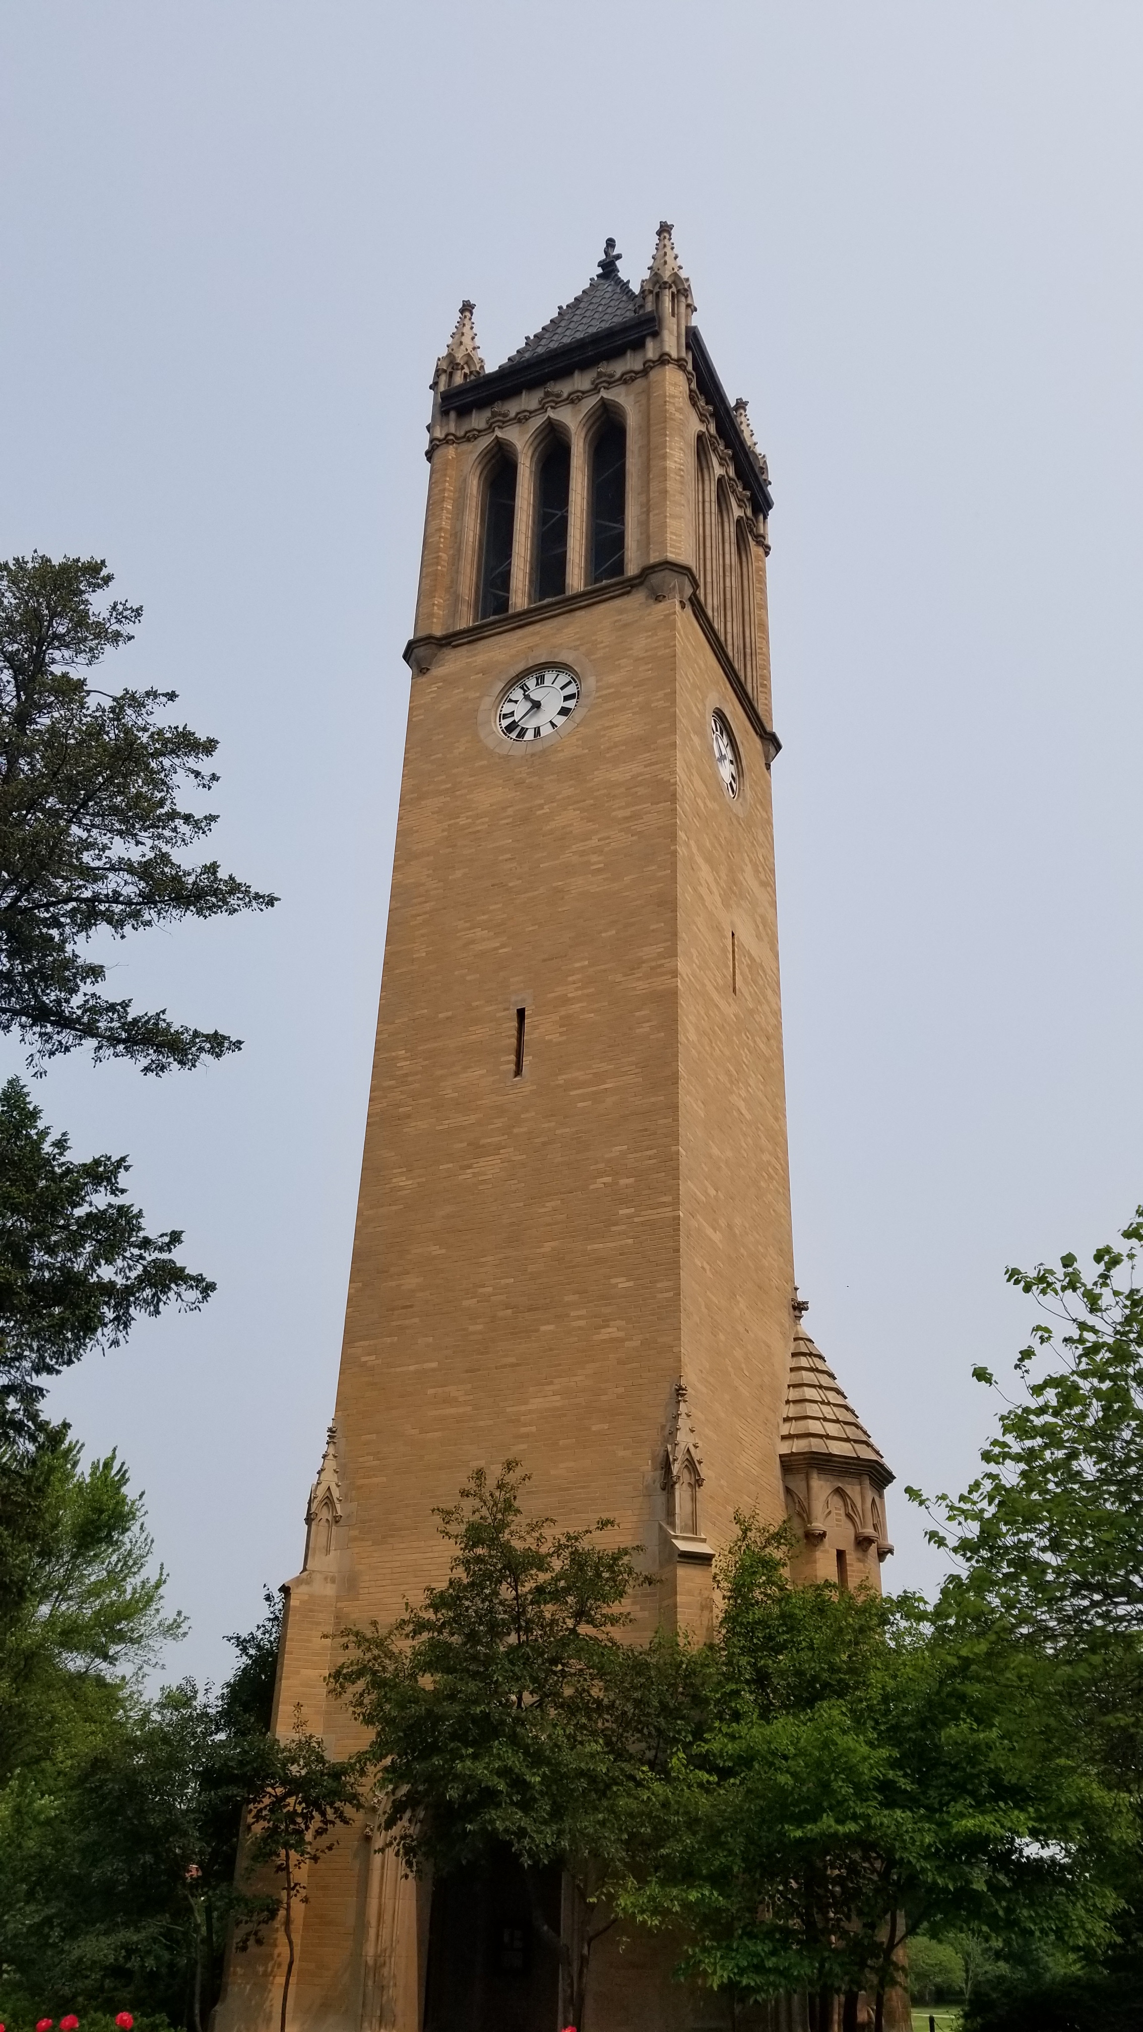
[[(1119, 1242), (1090, 1268), (1066, 1254), (1005, 1272), (1043, 1319), (980, 1473), (956, 1500), (907, 1491), (954, 1561), (938, 1603), (950, 1642), (972, 1646), (980, 1670), (1009, 1674), (1019, 1658), (1072, 1758), (1135, 1802), (1133, 1841), (1115, 1851), (1112, 1936), (1086, 1955), (1005, 1943), (970, 1997), (980, 2026), (1110, 2026), (1143, 1985), (1143, 1209)], [(974, 1376), (999, 1388), (986, 1368)]]

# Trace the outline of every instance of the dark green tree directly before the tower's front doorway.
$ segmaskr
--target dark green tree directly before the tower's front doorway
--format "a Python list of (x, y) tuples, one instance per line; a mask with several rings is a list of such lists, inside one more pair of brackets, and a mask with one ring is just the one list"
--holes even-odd
[[(649, 1585), (612, 1520), (553, 1532), (525, 1516), (519, 1461), (476, 1469), (437, 1512), (449, 1577), (390, 1630), (352, 1630), (332, 1687), (372, 1731), (382, 1829), (405, 1865), (437, 1876), (498, 1849), (523, 1865), (533, 1928), (559, 1957), (563, 2022), (584, 2032), (594, 1943), (643, 1839), (645, 1778), (665, 1772), (702, 1709), (702, 1668), (661, 1640), (618, 1638)], [(578, 1902), (572, 1936), (541, 1908), (559, 1863)]]

